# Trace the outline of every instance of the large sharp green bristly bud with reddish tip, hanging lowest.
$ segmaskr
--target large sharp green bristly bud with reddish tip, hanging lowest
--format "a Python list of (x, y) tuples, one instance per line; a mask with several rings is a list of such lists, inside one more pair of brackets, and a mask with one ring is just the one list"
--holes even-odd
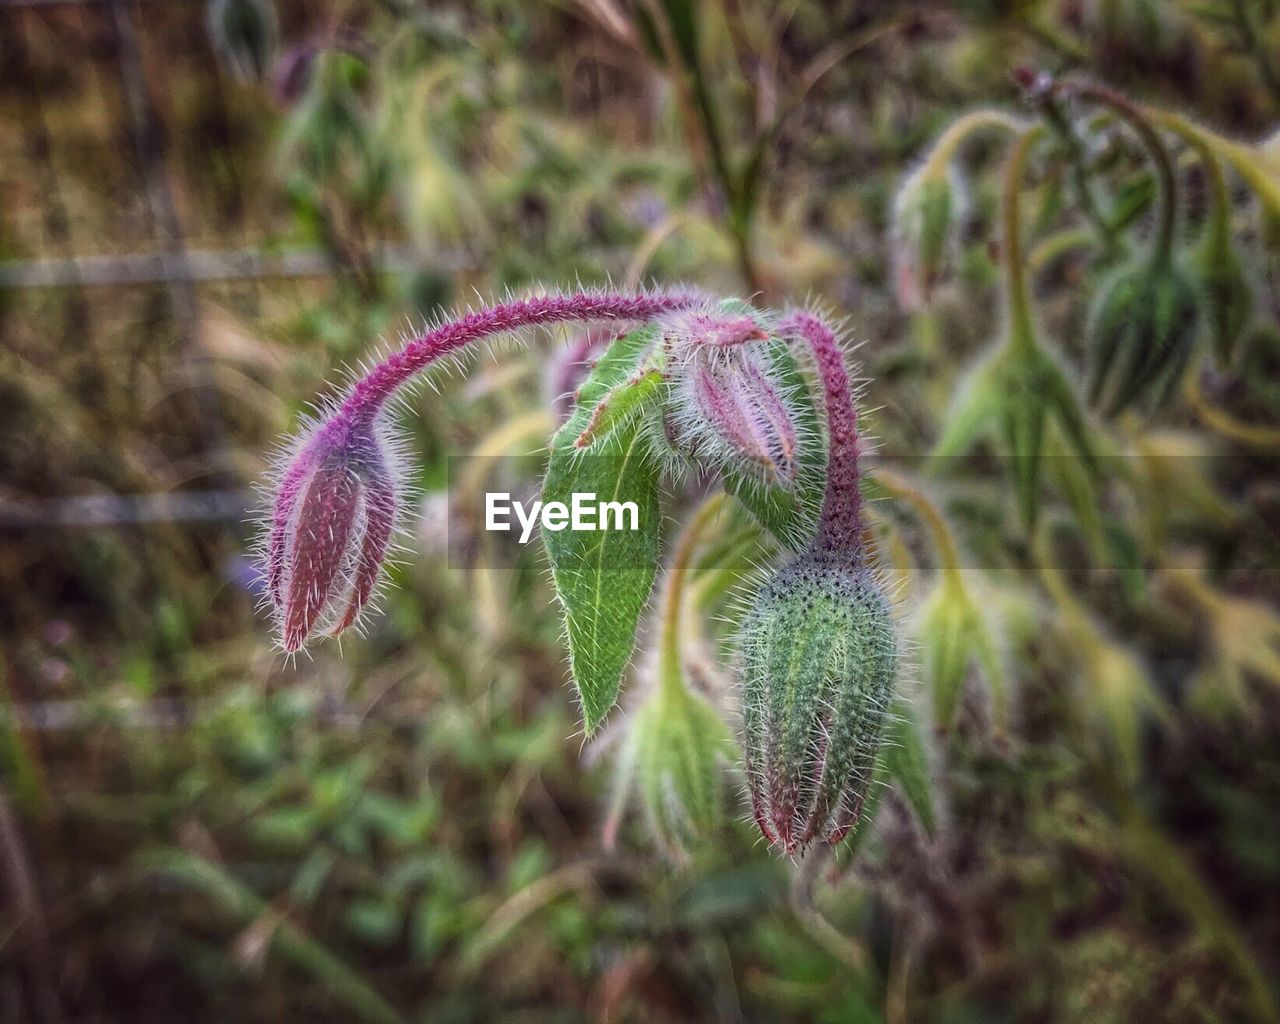
[(769, 844), (794, 854), (856, 823), (896, 664), (890, 603), (865, 567), (809, 550), (760, 589), (742, 625), (742, 731)]

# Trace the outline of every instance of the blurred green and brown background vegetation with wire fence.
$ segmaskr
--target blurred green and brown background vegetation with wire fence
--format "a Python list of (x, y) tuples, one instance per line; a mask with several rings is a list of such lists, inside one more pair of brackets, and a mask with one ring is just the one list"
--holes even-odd
[[(972, 667), (933, 828), (891, 792), (804, 899), (732, 777), (708, 846), (632, 814), (602, 842), (609, 737), (577, 732), (536, 545), (444, 552), (448, 457), (536, 447), (545, 339), (412, 401), (428, 497), (367, 639), (287, 664), (255, 616), (265, 453), (476, 292), (820, 298), (867, 342), (872, 433), (928, 452), (1000, 328), (1000, 140), (963, 150), (914, 311), (893, 195), (956, 114), (1019, 110), (1018, 64), (1280, 122), (1262, 0), (5, 0), (0, 1020), (1277, 1019), (1280, 247), (1252, 228), (1234, 366), (1107, 428), (1146, 468), (1097, 521), (1055, 485), (1057, 556), (998, 472), (931, 492), (1004, 612), (1010, 722)], [(1070, 250), (1037, 284), (1069, 361)]]

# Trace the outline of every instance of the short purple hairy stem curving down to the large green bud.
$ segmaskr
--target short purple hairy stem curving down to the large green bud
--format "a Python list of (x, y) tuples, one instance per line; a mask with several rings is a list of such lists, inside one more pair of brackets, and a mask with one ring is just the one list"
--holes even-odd
[(845, 355), (836, 333), (813, 314), (792, 314), (781, 330), (800, 335), (813, 349), (827, 410), (827, 492), (813, 545), (819, 553), (856, 558), (863, 547), (863, 495), (858, 488), (858, 410)]

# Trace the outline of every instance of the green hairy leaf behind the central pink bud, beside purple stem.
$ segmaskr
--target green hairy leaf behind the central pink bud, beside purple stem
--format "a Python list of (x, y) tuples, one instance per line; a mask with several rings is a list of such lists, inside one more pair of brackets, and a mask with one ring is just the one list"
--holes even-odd
[(781, 340), (771, 343), (767, 358), (778, 387), (795, 396), (796, 434), (806, 440), (800, 445), (796, 479), (785, 488), (756, 475), (726, 470), (724, 489), (778, 540), (790, 548), (800, 548), (813, 536), (822, 509), (827, 485), (827, 442), (813, 403), (813, 389), (790, 346)]

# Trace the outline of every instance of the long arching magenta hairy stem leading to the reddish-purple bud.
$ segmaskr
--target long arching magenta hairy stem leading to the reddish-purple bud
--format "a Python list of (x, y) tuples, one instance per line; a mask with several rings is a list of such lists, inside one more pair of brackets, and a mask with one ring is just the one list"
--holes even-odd
[(618, 294), (576, 292), (567, 296), (521, 298), (490, 306), (442, 324), (415, 338), (394, 356), (375, 366), (347, 396), (337, 420), (372, 417), (406, 381), (471, 342), (540, 324), (585, 320), (648, 320), (696, 305), (694, 293)]

